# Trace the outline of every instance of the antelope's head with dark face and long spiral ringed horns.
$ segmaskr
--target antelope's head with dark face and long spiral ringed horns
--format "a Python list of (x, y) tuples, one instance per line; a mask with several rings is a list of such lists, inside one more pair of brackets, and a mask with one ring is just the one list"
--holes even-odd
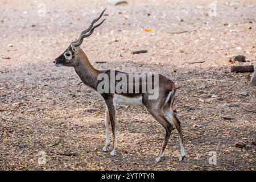
[(55, 59), (55, 61), (53, 61), (53, 63), (55, 64), (56, 67), (60, 67), (60, 66), (74, 67), (77, 63), (79, 63), (79, 61), (80, 61), (79, 58), (82, 53), (82, 49), (80, 48), (80, 45), (82, 44), (82, 41), (84, 40), (84, 38), (92, 35), (94, 28), (97, 28), (104, 22), (105, 19), (102, 20), (101, 23), (96, 24), (94, 26), (94, 23), (96, 23), (101, 18), (101, 16), (104, 14), (105, 10), (102, 11), (101, 15), (98, 16), (98, 18), (96, 18), (92, 21), (90, 26), (85, 31), (81, 32), (78, 40), (73, 41), (68, 46), (68, 48), (63, 53), (61, 53), (61, 55), (59, 57), (57, 57)]

